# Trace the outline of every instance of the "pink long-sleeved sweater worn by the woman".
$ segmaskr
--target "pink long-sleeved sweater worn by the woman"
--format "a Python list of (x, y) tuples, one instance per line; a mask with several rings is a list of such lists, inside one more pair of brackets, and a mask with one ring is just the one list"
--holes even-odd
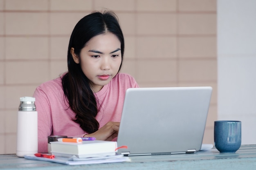
[[(120, 121), (126, 89), (136, 87), (139, 86), (133, 77), (119, 73), (101, 91), (94, 93), (101, 106), (96, 116), (99, 128), (108, 121)], [(65, 105), (60, 77), (38, 86), (33, 96), (38, 111), (38, 152), (47, 152), (49, 135), (83, 137), (87, 133), (73, 121), (76, 114)]]

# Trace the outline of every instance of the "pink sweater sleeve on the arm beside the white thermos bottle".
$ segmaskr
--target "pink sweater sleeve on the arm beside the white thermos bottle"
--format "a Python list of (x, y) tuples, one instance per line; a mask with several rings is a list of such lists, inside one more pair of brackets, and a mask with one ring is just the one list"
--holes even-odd
[(44, 91), (37, 87), (33, 97), (36, 98), (38, 112), (38, 152), (47, 152), (48, 136), (52, 134), (52, 113), (49, 100)]

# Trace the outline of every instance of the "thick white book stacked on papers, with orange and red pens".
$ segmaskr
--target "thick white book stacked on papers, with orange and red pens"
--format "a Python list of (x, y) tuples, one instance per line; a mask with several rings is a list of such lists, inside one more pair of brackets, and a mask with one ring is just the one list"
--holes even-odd
[[(77, 142), (74, 142), (74, 140), (77, 140)], [(47, 154), (46, 156), (44, 156), (45, 154), (38, 153), (35, 155), (25, 155), (25, 158), (33, 160), (52, 161), (67, 165), (130, 161), (128, 157), (117, 154), (118, 148), (116, 141), (82, 140), (81, 138), (61, 138), (58, 139), (58, 141), (52, 141), (50, 143), (52, 154)]]

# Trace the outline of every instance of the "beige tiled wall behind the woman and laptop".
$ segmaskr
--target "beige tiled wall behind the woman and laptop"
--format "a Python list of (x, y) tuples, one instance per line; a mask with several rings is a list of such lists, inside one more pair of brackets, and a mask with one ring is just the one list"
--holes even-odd
[(119, 16), (122, 72), (141, 87), (213, 87), (204, 135), (213, 144), (216, 0), (0, 0), (0, 154), (15, 153), (19, 97), (67, 70), (74, 25), (102, 7)]

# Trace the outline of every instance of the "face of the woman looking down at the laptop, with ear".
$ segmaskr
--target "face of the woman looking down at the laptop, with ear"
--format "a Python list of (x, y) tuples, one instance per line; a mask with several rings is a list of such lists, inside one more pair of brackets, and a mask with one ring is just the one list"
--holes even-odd
[(74, 61), (81, 64), (91, 88), (98, 92), (117, 75), (122, 57), (121, 42), (112, 33), (100, 34), (89, 40), (81, 50), (80, 58), (71, 49)]

